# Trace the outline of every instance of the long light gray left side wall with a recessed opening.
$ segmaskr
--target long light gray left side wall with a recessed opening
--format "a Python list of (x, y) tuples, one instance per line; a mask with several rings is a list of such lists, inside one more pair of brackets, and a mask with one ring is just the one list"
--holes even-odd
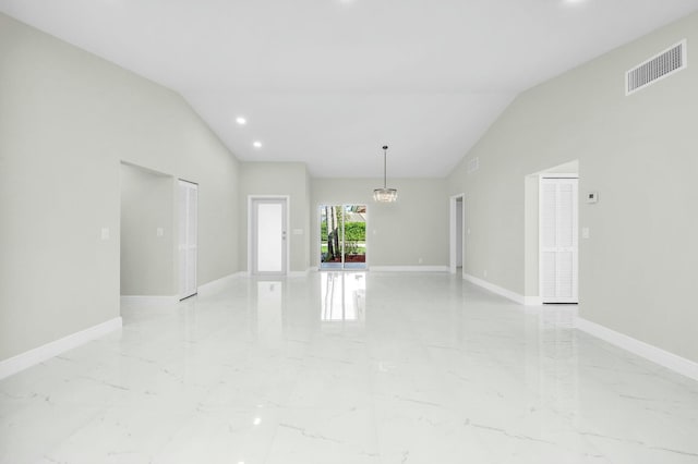
[(119, 316), (122, 160), (197, 182), (200, 283), (238, 270), (238, 162), (189, 105), (0, 14), (0, 359)]

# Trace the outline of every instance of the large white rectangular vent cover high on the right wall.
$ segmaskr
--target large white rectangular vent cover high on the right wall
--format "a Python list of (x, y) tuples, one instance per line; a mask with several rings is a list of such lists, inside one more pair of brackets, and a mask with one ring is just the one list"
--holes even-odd
[(686, 69), (687, 65), (688, 54), (686, 39), (684, 39), (625, 73), (625, 95), (635, 94), (657, 81)]

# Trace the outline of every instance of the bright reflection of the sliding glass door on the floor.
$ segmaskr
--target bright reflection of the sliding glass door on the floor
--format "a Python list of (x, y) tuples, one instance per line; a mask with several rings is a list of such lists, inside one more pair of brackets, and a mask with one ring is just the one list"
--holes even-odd
[(321, 272), (321, 319), (326, 322), (365, 320), (365, 272)]

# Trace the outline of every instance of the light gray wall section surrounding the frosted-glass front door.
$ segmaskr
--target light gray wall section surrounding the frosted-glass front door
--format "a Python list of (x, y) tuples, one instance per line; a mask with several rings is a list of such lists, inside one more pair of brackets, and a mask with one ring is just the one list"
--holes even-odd
[[(248, 268), (248, 198), (250, 195), (288, 195), (289, 224), (287, 233), (290, 270), (302, 272), (309, 267), (308, 168), (302, 162), (243, 162), (240, 202), (244, 227), (240, 231), (240, 267)], [(294, 232), (296, 231), (296, 232)], [(300, 233), (298, 233), (300, 232)]]

